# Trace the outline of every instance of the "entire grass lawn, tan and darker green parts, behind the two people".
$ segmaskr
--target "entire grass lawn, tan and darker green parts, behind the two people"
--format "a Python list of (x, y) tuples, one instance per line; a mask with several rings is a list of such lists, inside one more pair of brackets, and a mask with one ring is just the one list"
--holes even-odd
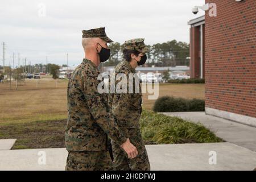
[[(67, 83), (44, 77), (19, 83), (17, 90), (15, 82), (13, 90), (0, 84), (0, 139), (16, 138), (13, 149), (64, 147)], [(159, 84), (161, 96), (204, 98), (204, 84)], [(143, 95), (144, 109), (152, 109), (154, 102)]]

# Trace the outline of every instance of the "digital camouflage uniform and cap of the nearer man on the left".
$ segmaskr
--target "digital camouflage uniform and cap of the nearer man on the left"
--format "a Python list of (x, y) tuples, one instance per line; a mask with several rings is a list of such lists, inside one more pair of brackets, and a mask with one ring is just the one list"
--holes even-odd
[[(112, 42), (104, 28), (82, 32), (83, 38), (100, 37)], [(106, 148), (108, 136), (119, 146), (126, 142), (109, 113), (108, 96), (97, 91), (99, 73), (92, 61), (84, 59), (69, 78), (66, 170), (111, 170), (112, 160)]]

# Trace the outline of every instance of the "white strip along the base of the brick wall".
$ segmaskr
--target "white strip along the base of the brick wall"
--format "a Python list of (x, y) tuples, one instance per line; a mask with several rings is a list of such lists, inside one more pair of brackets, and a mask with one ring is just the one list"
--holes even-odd
[(205, 107), (205, 114), (214, 115), (217, 117), (229, 119), (231, 121), (236, 121), (245, 125), (250, 125), (256, 127), (256, 118), (249, 117), (247, 115), (230, 113), (223, 110), (213, 109), (210, 107)]

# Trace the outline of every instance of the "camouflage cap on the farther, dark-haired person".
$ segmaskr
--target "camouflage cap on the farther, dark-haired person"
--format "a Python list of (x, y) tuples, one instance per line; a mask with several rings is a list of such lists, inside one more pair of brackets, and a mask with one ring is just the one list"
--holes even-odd
[(124, 48), (143, 53), (150, 52), (150, 48), (144, 44), (143, 38), (126, 40)]

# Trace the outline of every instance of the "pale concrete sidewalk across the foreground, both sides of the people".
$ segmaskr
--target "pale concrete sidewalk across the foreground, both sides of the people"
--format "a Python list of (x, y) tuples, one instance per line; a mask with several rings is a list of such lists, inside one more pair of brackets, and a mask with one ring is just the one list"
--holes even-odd
[[(256, 152), (228, 142), (161, 144), (146, 148), (151, 170), (251, 171), (256, 167)], [(210, 151), (216, 152), (216, 164), (209, 164)], [(65, 148), (0, 151), (0, 170), (64, 170), (67, 155)]]

